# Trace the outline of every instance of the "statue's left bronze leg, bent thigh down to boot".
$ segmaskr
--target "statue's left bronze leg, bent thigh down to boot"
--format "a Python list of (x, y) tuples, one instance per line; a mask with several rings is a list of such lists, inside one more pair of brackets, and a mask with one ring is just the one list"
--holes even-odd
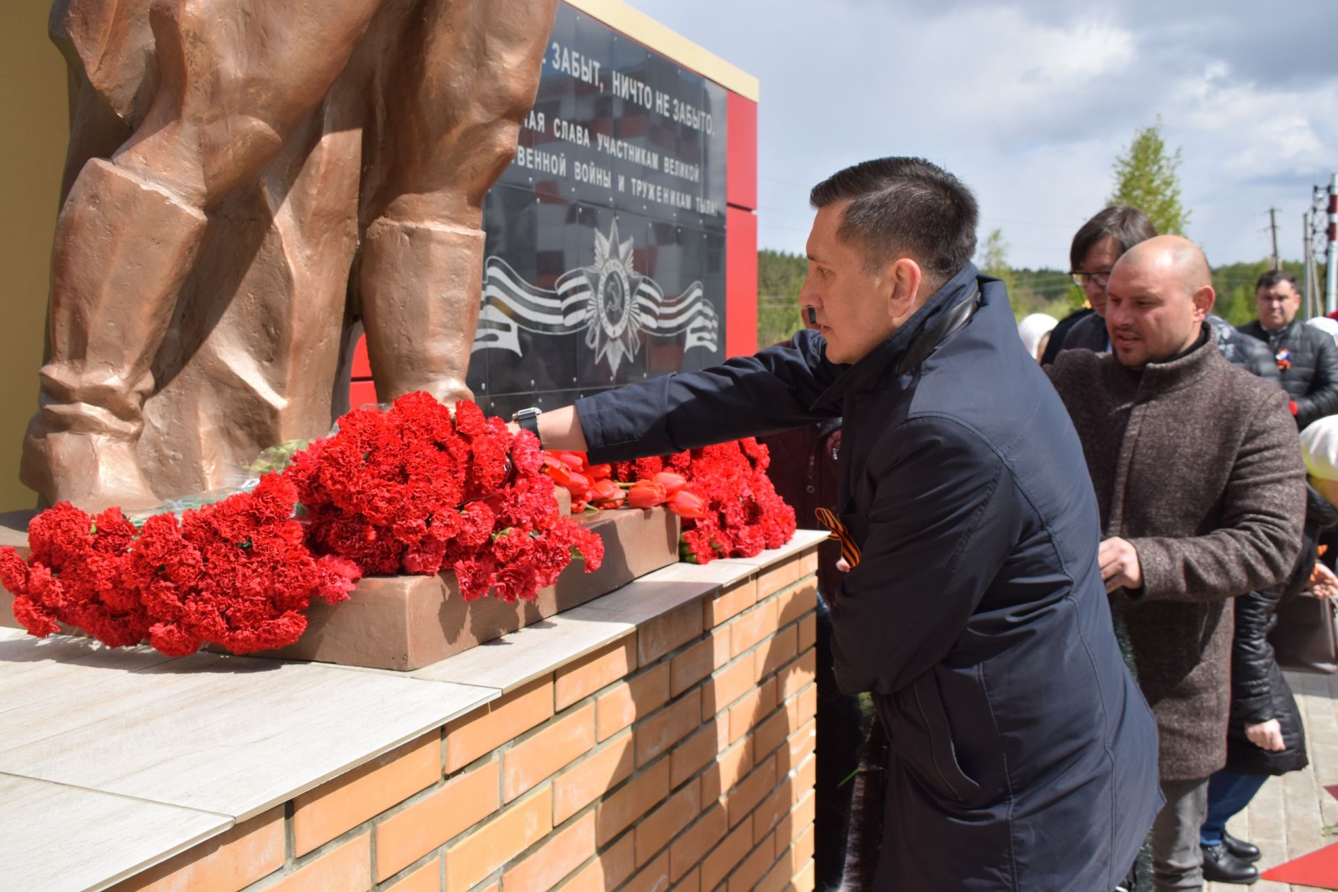
[(40, 408), (20, 469), (44, 500), (91, 508), (158, 501), (135, 445), (154, 389), (150, 366), (206, 213), (278, 152), (380, 3), (150, 4), (154, 99), (110, 160), (83, 167), (56, 223), (51, 358), (39, 374)]

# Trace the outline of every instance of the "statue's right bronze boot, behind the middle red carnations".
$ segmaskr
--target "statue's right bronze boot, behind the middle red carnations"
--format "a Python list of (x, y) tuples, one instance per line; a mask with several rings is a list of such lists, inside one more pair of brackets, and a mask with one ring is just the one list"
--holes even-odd
[(472, 400), (466, 384), (483, 298), (483, 233), (438, 223), (373, 222), (360, 290), (376, 399), (427, 391)]

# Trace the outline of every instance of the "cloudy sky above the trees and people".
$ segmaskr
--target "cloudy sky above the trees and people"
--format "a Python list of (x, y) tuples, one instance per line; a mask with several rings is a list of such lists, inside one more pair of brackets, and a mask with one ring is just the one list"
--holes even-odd
[(630, 0), (761, 80), (761, 247), (803, 250), (808, 187), (923, 155), (981, 199), (1013, 266), (1068, 265), (1115, 156), (1161, 116), (1214, 265), (1299, 259), (1338, 170), (1338, 0)]

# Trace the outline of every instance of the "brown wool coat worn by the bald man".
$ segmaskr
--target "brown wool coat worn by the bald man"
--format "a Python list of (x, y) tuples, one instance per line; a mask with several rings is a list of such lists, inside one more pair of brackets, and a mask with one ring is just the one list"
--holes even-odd
[(1231, 598), (1280, 583), (1301, 550), (1306, 469), (1287, 396), (1210, 338), (1140, 374), (1061, 353), (1050, 380), (1073, 417), (1105, 536), (1139, 552), (1120, 590), (1139, 685), (1157, 718), (1163, 781), (1226, 764)]

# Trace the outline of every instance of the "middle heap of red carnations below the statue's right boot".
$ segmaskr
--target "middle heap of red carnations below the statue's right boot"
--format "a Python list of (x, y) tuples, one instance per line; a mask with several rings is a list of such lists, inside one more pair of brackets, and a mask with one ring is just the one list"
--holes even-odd
[(467, 600), (533, 599), (573, 556), (597, 570), (603, 542), (557, 511), (534, 435), (474, 403), (455, 416), (427, 393), (356, 409), (293, 457), (288, 473), (320, 554), (365, 574), (454, 570)]

